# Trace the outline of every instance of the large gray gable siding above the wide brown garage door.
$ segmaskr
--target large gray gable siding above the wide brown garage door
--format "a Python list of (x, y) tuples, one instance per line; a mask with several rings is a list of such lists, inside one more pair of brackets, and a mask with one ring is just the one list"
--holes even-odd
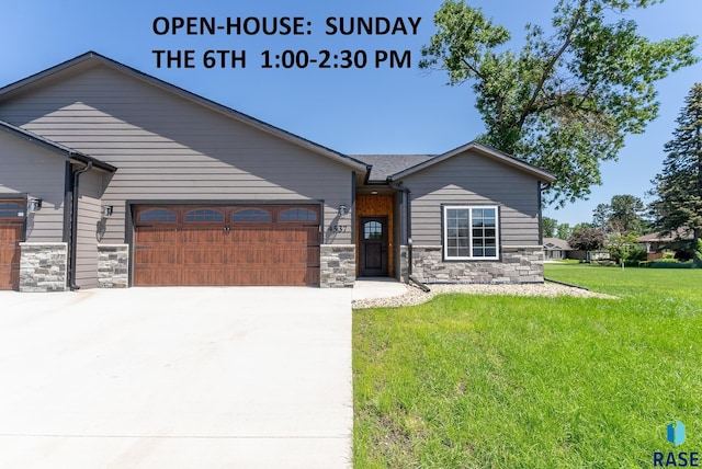
[(324, 199), (326, 227), (352, 202), (346, 165), (104, 66), (0, 102), (0, 118), (118, 168), (103, 243), (125, 241), (125, 201)]

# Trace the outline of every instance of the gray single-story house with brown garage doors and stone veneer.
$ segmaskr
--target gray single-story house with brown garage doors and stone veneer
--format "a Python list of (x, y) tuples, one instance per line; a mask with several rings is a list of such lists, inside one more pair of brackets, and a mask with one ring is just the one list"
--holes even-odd
[(543, 282), (550, 172), (322, 147), (95, 53), (0, 88), (0, 289)]

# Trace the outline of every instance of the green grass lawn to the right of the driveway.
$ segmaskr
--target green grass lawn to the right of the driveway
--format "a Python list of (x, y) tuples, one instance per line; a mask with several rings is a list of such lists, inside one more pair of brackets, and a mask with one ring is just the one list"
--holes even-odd
[(621, 299), (354, 311), (355, 468), (652, 467), (702, 451), (702, 270), (548, 264)]

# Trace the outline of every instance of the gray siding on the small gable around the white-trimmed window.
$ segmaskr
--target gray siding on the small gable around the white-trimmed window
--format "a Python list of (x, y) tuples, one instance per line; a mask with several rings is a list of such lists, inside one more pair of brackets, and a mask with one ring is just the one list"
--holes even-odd
[(500, 206), (502, 245), (537, 245), (539, 184), (517, 169), (477, 153), (457, 155), (404, 181), (411, 193), (412, 242), (441, 245), (442, 204)]

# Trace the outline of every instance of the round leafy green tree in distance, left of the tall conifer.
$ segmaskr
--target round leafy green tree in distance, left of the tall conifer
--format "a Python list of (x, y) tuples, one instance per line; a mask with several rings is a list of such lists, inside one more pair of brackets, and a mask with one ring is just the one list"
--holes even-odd
[(592, 211), (592, 225), (608, 233), (642, 232), (646, 220), (645, 206), (633, 195), (615, 195), (609, 204), (599, 204)]

